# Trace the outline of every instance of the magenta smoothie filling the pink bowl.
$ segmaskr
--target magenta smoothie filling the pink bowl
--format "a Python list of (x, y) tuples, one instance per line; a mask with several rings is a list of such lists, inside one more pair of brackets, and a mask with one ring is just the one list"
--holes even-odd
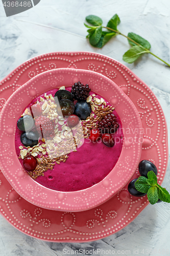
[[(71, 88), (66, 88), (66, 90), (70, 91)], [(49, 102), (53, 102), (53, 97), (55, 93), (58, 91), (58, 89), (51, 90), (46, 92), (46, 94), (41, 95), (37, 98), (35, 98), (27, 107), (29, 107), (34, 104), (35, 102), (38, 102), (38, 104), (42, 107), (44, 102), (47, 100), (50, 100)], [(48, 95), (52, 95), (51, 98), (48, 98)], [(104, 107), (106, 108), (108, 105), (110, 106), (109, 102), (105, 99), (103, 99), (100, 95), (90, 92), (90, 95), (92, 97), (92, 100), (94, 102), (97, 102), (96, 99), (101, 100), (101, 102), (105, 103)], [(92, 96), (93, 95), (93, 96)], [(95, 95), (95, 99), (94, 99)], [(98, 100), (98, 101), (99, 101)], [(92, 102), (92, 101), (91, 101)], [(99, 104), (99, 107), (102, 106)], [(50, 104), (50, 103), (49, 103)], [(51, 103), (52, 105), (52, 103)], [(94, 104), (95, 105), (95, 104)], [(97, 108), (98, 105), (96, 105)], [(93, 109), (92, 109), (93, 110)], [(35, 181), (39, 184), (58, 191), (77, 191), (82, 190), (88, 187), (93, 186), (96, 183), (99, 183), (102, 181), (113, 169), (115, 166), (120, 153), (122, 151), (122, 145), (123, 145), (123, 132), (122, 132), (122, 123), (119, 119), (118, 114), (115, 110), (112, 112), (119, 124), (118, 129), (114, 134), (112, 134), (112, 137), (114, 138), (115, 144), (113, 147), (106, 146), (102, 140), (92, 142), (88, 138), (88, 131), (86, 136), (84, 137), (80, 145), (76, 148), (74, 151), (70, 151), (70, 153), (67, 154), (66, 161), (63, 161), (62, 159), (59, 159), (59, 162), (55, 159), (54, 161), (54, 155), (52, 156), (51, 163), (54, 163), (51, 168), (48, 168), (45, 172), (43, 172), (43, 175), (38, 176)], [(46, 115), (46, 113), (45, 113)], [(93, 116), (92, 116), (93, 115)], [(95, 120), (96, 115), (93, 111), (91, 111), (91, 117)], [(58, 116), (54, 119), (52, 118), (52, 122), (54, 125), (56, 125), (56, 118), (59, 118)], [(62, 119), (62, 118), (61, 118)], [(65, 118), (66, 119), (66, 118)], [(58, 120), (58, 119), (57, 119)], [(82, 126), (86, 126), (88, 124), (85, 122), (86, 120), (82, 120)], [(55, 127), (55, 135), (58, 139), (58, 136), (61, 136), (61, 133), (59, 133), (63, 126), (65, 125), (66, 120), (59, 120), (56, 127)], [(87, 123), (87, 124), (86, 124)], [(90, 124), (88, 124), (90, 126)], [(65, 127), (64, 127), (65, 128)], [(90, 127), (91, 128), (91, 127)], [(33, 129), (35, 130), (35, 128)], [(69, 131), (65, 131), (65, 136), (68, 136), (69, 134), (75, 134), (74, 130), (68, 129)], [(84, 129), (85, 130), (85, 129)], [(83, 131), (84, 131), (83, 130)], [(88, 130), (88, 129), (86, 129)], [(57, 131), (57, 132), (56, 132)], [(19, 161), (21, 165), (23, 166), (23, 159), (24, 157), (21, 156), (21, 151), (25, 149), (25, 152), (27, 151), (27, 155), (29, 154), (28, 147), (24, 147), (23, 144), (20, 141), (20, 136), (23, 132), (16, 128), (15, 133), (15, 148), (16, 148), (16, 154), (19, 158)], [(64, 136), (64, 135), (63, 135)], [(64, 139), (63, 139), (64, 140)], [(43, 148), (45, 143), (48, 143), (50, 140), (41, 141), (41, 138), (39, 139), (38, 143), (39, 145), (42, 145), (42, 149), (46, 150), (46, 148)], [(50, 143), (50, 142), (49, 142)], [(59, 144), (61, 144), (61, 141), (59, 141)], [(48, 144), (47, 144), (48, 145)], [(70, 143), (71, 145), (71, 143)], [(38, 148), (38, 147), (37, 147)], [(51, 148), (51, 147), (50, 147)], [(52, 150), (54, 151), (54, 148), (57, 148), (57, 142), (55, 145), (53, 145)], [(61, 147), (62, 148), (62, 147)], [(63, 147), (63, 152), (65, 151)], [(30, 151), (31, 153), (32, 151)], [(38, 151), (37, 151), (38, 152)], [(43, 154), (42, 154), (43, 152)], [(36, 155), (37, 154), (37, 155)], [(38, 153), (33, 154), (35, 158), (43, 159), (43, 157), (47, 157), (49, 152), (39, 151)], [(53, 153), (54, 154), (54, 153)], [(64, 154), (65, 155), (65, 154)], [(60, 161), (61, 160), (61, 161)], [(57, 163), (58, 162), (58, 163)], [(24, 170), (23, 170), (24, 171)], [(29, 173), (30, 174), (30, 173)], [(31, 175), (33, 175), (31, 173)]]

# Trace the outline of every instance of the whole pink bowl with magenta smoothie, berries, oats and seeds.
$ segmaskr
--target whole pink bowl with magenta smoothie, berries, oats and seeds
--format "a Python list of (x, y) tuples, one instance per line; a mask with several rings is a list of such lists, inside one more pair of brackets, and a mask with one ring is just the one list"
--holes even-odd
[(3, 108), (2, 172), (32, 204), (87, 210), (133, 176), (140, 130), (135, 106), (110, 79), (87, 70), (47, 71), (20, 87)]

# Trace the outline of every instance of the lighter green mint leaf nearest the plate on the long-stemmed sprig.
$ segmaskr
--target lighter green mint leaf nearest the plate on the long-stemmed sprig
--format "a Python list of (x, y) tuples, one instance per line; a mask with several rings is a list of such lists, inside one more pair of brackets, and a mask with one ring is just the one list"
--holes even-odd
[(148, 52), (149, 51), (145, 51), (141, 46), (133, 46), (123, 55), (123, 60), (128, 63), (133, 63), (136, 59), (138, 59), (141, 56), (141, 54)]

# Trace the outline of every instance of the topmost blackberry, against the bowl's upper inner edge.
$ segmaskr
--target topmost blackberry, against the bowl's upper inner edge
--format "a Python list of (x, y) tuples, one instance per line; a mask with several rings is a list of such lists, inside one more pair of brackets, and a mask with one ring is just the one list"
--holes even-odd
[(89, 96), (89, 92), (91, 91), (91, 89), (89, 88), (88, 84), (84, 84), (79, 82), (75, 82), (74, 86), (72, 86), (71, 89), (71, 94), (72, 97), (75, 99), (87, 99), (87, 97)]

